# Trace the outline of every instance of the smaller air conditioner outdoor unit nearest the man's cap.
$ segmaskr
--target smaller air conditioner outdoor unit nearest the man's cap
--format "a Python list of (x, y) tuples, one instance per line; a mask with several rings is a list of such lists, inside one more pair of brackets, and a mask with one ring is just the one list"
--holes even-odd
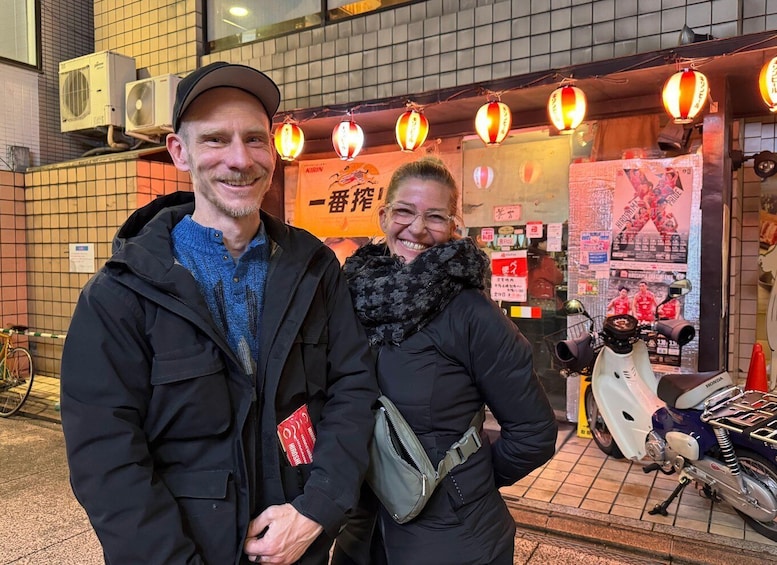
[(173, 131), (175, 89), (181, 78), (160, 75), (128, 82), (125, 105), (127, 134), (163, 135)]

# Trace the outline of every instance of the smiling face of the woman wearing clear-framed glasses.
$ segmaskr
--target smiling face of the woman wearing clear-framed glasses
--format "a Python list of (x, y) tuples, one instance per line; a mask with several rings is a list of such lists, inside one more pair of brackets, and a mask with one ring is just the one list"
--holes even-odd
[(433, 245), (450, 241), (456, 227), (450, 199), (450, 188), (437, 181), (411, 177), (400, 184), (394, 200), (379, 212), (389, 251), (410, 263)]

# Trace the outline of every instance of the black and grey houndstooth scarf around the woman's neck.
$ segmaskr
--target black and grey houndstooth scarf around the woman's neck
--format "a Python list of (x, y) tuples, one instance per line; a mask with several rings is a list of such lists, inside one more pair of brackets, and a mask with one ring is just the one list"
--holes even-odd
[(484, 288), (488, 257), (470, 238), (430, 247), (412, 262), (368, 244), (345, 261), (356, 313), (371, 345), (401, 343), (465, 288)]

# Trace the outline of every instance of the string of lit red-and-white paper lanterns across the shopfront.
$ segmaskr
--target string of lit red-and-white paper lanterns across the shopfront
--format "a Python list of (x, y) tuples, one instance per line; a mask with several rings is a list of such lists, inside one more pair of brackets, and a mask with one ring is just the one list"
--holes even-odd
[[(777, 112), (777, 57), (767, 62), (758, 79), (761, 97), (771, 112)], [(664, 109), (677, 124), (690, 124), (698, 117), (710, 98), (709, 81), (701, 72), (688, 67), (678, 70), (664, 83), (661, 99)], [(584, 120), (587, 100), (582, 89), (571, 79), (564, 79), (548, 98), (548, 117), (559, 133), (572, 133)], [(475, 132), (487, 147), (501, 144), (512, 127), (512, 111), (499, 94), (488, 93), (488, 102), (475, 115)], [(429, 120), (423, 108), (407, 103), (407, 110), (397, 118), (395, 133), (400, 150), (412, 152), (421, 147), (429, 134)], [(281, 159), (293, 161), (302, 152), (305, 135), (290, 117), (275, 130), (275, 148)], [(332, 146), (344, 161), (353, 160), (364, 145), (364, 131), (354, 121), (353, 113), (335, 126)]]

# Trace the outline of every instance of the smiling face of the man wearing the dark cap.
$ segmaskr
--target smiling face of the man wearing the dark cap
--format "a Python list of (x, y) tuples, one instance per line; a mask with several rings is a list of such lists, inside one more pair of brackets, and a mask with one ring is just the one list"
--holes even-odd
[(175, 166), (191, 175), (199, 223), (258, 214), (276, 155), (270, 119), (254, 96), (237, 88), (204, 92), (179, 132), (167, 136), (167, 148)]

